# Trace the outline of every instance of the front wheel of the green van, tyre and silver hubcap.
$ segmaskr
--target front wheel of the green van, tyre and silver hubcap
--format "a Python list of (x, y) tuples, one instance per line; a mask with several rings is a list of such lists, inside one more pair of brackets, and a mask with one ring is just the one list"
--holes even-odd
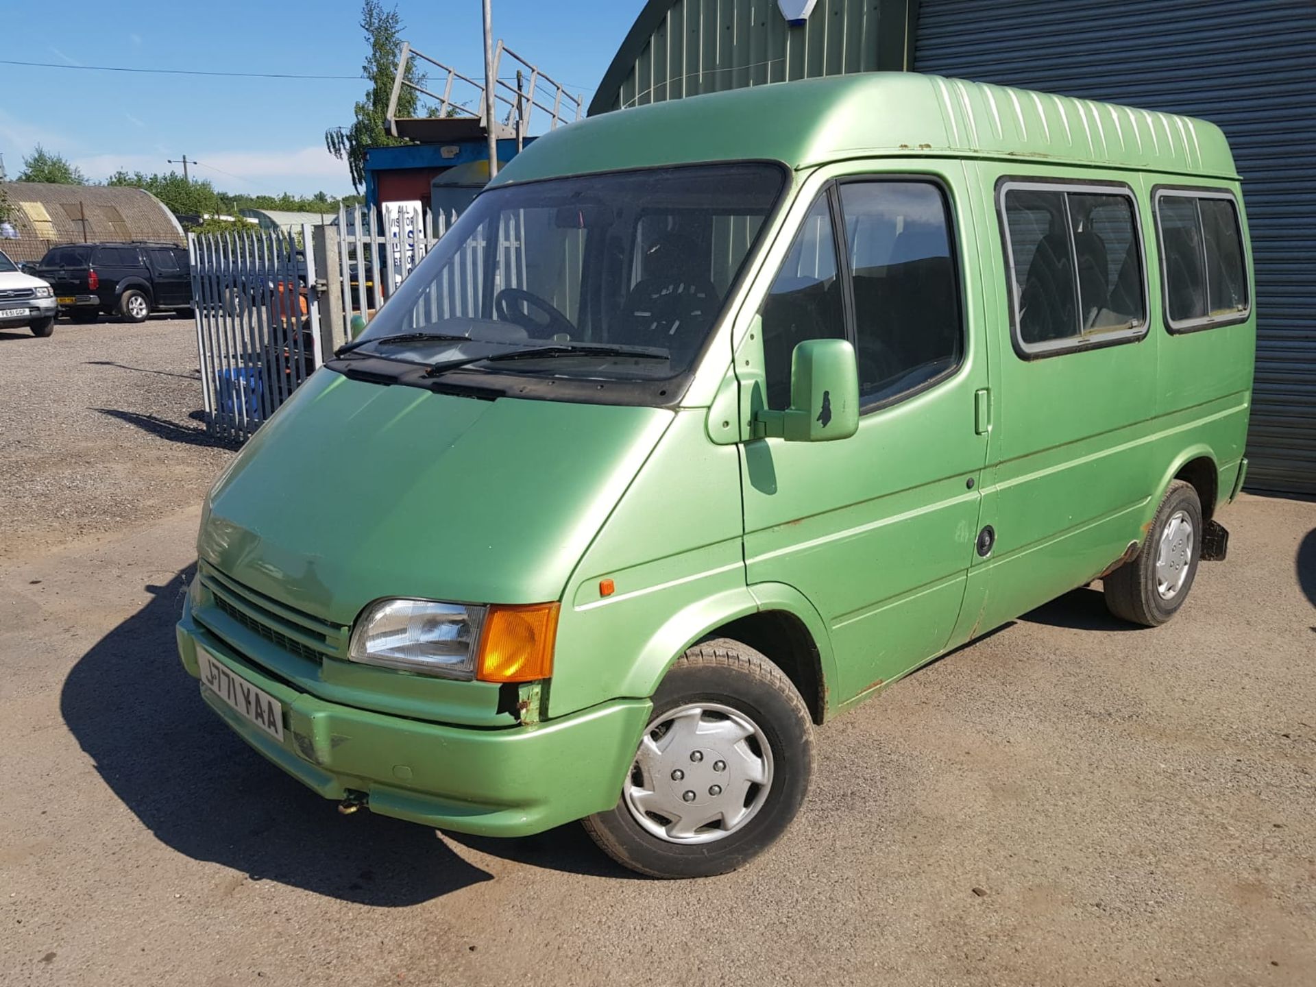
[(616, 807), (584, 828), (641, 874), (725, 874), (786, 832), (812, 772), (813, 724), (790, 679), (738, 641), (704, 641), (654, 694)]

